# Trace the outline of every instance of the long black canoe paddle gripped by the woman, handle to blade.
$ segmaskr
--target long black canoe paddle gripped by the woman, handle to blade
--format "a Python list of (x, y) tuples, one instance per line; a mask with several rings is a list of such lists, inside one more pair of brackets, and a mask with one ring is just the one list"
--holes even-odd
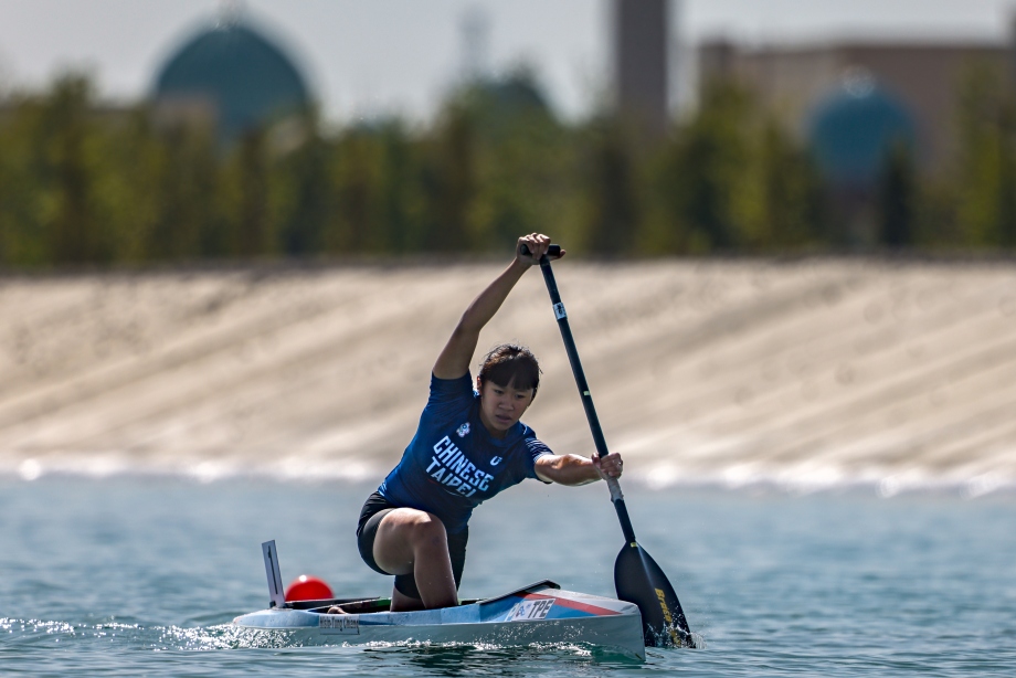
[[(560, 253), (561, 247), (559, 245), (551, 245), (548, 252), (551, 256), (558, 256)], [(526, 245), (522, 245), (522, 254), (529, 254), (529, 248)], [(582, 363), (579, 361), (575, 340), (572, 338), (571, 327), (568, 325), (568, 314), (564, 311), (564, 304), (561, 303), (561, 295), (558, 294), (558, 284), (554, 280), (553, 271), (550, 268), (550, 259), (547, 256), (540, 258), (540, 271), (543, 273), (543, 282), (547, 283), (547, 290), (550, 293), (550, 301), (553, 304), (558, 327), (561, 329), (561, 337), (564, 339), (564, 349), (568, 351), (568, 361), (571, 363), (572, 373), (575, 375), (575, 384), (582, 395), (585, 419), (589, 420), (593, 441), (596, 444), (596, 452), (603, 458), (608, 454), (606, 441), (603, 437), (603, 430), (600, 427), (596, 409), (593, 406), (589, 384), (585, 382), (585, 372), (583, 372)], [(621, 520), (621, 529), (624, 532), (626, 542), (614, 562), (614, 587), (617, 590), (617, 597), (622, 601), (635, 603), (638, 606), (642, 613), (642, 628), (647, 646), (695, 647), (691, 629), (688, 628), (688, 621), (685, 618), (685, 612), (677, 600), (674, 586), (670, 585), (667, 575), (659, 569), (656, 561), (635, 540), (635, 529), (632, 527), (631, 518), (628, 518), (624, 495), (621, 494), (621, 484), (616, 478), (608, 478), (606, 484), (611, 490), (611, 501), (614, 504), (614, 510), (617, 511), (617, 518)]]

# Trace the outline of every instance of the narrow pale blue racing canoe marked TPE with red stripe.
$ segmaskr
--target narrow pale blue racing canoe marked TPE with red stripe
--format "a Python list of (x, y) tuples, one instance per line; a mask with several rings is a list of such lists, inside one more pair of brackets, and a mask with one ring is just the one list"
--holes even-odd
[[(348, 614), (327, 614), (341, 605)], [(549, 580), (456, 607), (390, 612), (388, 598), (282, 603), (233, 619), (236, 627), (285, 635), (287, 644), (582, 643), (645, 659), (638, 607), (615, 598), (562, 591)]]

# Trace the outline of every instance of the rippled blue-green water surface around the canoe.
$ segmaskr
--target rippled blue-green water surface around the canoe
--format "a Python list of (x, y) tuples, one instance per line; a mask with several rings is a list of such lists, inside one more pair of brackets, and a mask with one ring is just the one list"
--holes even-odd
[[(370, 485), (165, 477), (0, 480), (4, 675), (970, 676), (1016, 674), (1016, 500), (627, 487), (641, 542), (699, 650), (646, 664), (583, 646), (272, 646), (229, 622), (283, 579), (390, 583), (356, 553)], [(613, 594), (621, 531), (601, 486), (523, 484), (480, 507), (462, 594), (552, 579)]]

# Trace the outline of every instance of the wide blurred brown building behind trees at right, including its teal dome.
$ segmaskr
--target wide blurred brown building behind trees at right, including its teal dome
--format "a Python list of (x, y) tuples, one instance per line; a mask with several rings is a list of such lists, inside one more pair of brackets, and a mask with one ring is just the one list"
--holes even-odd
[(733, 78), (784, 126), (807, 139), (834, 176), (877, 171), (886, 145), (912, 145), (918, 167), (942, 169), (953, 156), (960, 88), (982, 65), (1012, 84), (1014, 45), (842, 42), (742, 47), (724, 40), (699, 47), (699, 83)]

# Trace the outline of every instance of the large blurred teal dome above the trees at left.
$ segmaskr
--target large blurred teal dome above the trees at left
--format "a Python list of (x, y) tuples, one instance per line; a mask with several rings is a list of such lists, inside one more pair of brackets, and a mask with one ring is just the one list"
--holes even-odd
[(203, 31), (170, 56), (156, 77), (155, 97), (208, 102), (223, 139), (310, 105), (303, 76), (283, 51), (236, 23)]

